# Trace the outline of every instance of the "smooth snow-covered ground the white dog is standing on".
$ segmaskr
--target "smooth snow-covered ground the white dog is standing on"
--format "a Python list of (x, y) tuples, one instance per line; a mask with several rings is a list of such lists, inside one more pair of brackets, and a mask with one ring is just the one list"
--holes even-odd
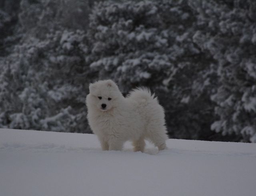
[(102, 151), (95, 135), (0, 129), (1, 196), (252, 196), (256, 144)]

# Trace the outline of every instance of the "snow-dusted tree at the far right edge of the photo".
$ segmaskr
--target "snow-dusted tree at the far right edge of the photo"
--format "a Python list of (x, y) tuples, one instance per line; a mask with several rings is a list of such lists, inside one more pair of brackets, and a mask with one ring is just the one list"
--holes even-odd
[[(198, 44), (208, 50), (218, 68), (218, 91), (212, 95), (219, 120), (216, 132), (237, 134), (256, 142), (256, 3), (254, 1), (194, 1), (204, 30)], [(199, 42), (200, 42), (199, 40)]]

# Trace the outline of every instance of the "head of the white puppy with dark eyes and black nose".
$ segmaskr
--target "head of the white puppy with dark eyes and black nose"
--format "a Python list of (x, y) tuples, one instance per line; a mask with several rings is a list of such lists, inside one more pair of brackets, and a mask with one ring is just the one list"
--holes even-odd
[(102, 112), (107, 112), (117, 106), (122, 96), (118, 86), (112, 80), (100, 80), (89, 86), (90, 94), (86, 98), (87, 104), (93, 105)]

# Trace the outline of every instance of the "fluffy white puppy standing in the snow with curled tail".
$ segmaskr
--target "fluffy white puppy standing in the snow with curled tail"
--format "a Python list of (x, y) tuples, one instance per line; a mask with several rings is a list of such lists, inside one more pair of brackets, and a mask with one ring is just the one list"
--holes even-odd
[(89, 86), (86, 97), (88, 122), (100, 140), (102, 150), (122, 150), (131, 140), (134, 151), (144, 151), (150, 140), (159, 150), (166, 148), (164, 109), (150, 90), (137, 88), (124, 98), (112, 80)]

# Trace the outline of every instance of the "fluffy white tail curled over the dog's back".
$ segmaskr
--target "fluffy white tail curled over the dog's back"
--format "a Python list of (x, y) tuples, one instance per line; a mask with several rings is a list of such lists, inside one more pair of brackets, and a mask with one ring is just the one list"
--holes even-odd
[(133, 89), (128, 95), (127, 98), (131, 98), (137, 101), (146, 101), (146, 102), (157, 102), (158, 103), (158, 99), (155, 96), (155, 94), (151, 93), (149, 88), (146, 87), (138, 87)]

